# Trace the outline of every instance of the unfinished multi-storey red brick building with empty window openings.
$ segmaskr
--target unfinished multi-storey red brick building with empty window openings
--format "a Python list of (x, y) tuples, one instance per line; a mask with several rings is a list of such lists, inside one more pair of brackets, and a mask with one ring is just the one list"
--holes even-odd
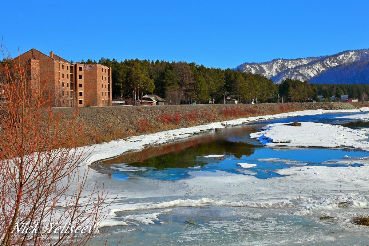
[(111, 67), (75, 64), (50, 52), (31, 49), (15, 58), (30, 68), (32, 84), (52, 95), (52, 106), (105, 106), (111, 104)]

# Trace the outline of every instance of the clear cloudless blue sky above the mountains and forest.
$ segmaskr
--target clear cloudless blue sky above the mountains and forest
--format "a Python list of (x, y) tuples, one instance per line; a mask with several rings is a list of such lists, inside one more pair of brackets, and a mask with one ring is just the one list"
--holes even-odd
[(234, 68), (369, 48), (369, 1), (1, 1), (13, 56), (139, 58)]

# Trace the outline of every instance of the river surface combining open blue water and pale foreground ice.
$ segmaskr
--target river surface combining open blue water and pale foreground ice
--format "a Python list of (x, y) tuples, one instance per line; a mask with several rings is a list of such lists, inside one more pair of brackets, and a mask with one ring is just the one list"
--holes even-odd
[(94, 163), (94, 178), (118, 197), (106, 222), (114, 225), (109, 242), (368, 245), (369, 228), (351, 223), (356, 214), (369, 214), (367, 151), (269, 148), (249, 137), (267, 124), (292, 121), (368, 128), (368, 122), (337, 118), (348, 114), (228, 127)]

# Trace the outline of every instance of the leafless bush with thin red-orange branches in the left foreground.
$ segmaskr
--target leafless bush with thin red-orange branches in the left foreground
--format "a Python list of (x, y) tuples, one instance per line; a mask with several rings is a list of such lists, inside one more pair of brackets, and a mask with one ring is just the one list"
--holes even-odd
[[(34, 86), (27, 66), (9, 59), (5, 70), (0, 81), (1, 246), (90, 245), (94, 230), (46, 233), (50, 223), (96, 228), (103, 219), (104, 188), (96, 185), (82, 202), (87, 169), (80, 168), (83, 149), (75, 148), (86, 144), (79, 111), (65, 117), (50, 108), (52, 95)], [(39, 228), (17, 232), (23, 224)]]

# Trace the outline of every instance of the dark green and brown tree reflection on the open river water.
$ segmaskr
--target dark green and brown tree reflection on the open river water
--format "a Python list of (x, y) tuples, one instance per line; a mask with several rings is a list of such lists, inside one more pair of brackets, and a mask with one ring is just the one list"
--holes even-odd
[(260, 145), (214, 139), (214, 136), (208, 136), (192, 138), (186, 142), (146, 148), (140, 152), (127, 153), (114, 159), (106, 160), (103, 164), (126, 163), (137, 167), (155, 167), (156, 170), (169, 167), (187, 168), (197, 165), (202, 166), (209, 162), (208, 159), (197, 159), (197, 156), (225, 154), (241, 158), (242, 156), (252, 155), (255, 148), (260, 147)]

